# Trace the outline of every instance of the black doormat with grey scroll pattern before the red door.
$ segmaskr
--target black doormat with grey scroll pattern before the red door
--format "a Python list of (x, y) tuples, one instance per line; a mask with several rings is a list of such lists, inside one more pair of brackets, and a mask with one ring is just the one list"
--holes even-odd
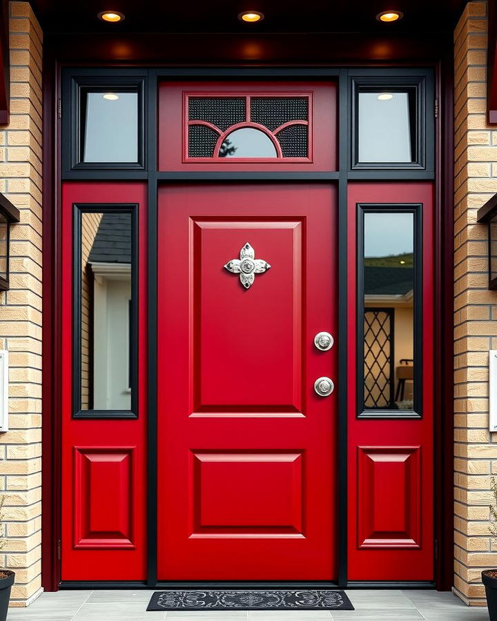
[(147, 610), (353, 610), (344, 591), (159, 591)]

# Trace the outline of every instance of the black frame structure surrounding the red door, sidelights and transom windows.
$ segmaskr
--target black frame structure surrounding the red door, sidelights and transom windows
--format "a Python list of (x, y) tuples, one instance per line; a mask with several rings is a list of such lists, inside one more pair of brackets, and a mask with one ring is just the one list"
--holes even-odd
[[(54, 43), (56, 46), (56, 43)], [(72, 58), (72, 57), (71, 57)], [(52, 59), (53, 61), (53, 59)], [(79, 62), (86, 62), (85, 58), (79, 59)], [(55, 63), (54, 63), (55, 64)], [(338, 299), (338, 324), (339, 334), (335, 339), (335, 347), (338, 348), (338, 382), (336, 382), (336, 391), (338, 393), (338, 446), (339, 454), (337, 457), (338, 464), (338, 585), (341, 587), (347, 586), (348, 588), (364, 588), (364, 586), (370, 586), (371, 588), (416, 588), (416, 589), (430, 589), (433, 588), (433, 582), (349, 582), (347, 579), (347, 502), (344, 499), (347, 498), (347, 490), (349, 482), (347, 480), (347, 408), (348, 408), (348, 386), (347, 386), (347, 372), (348, 372), (348, 358), (349, 351), (347, 348), (347, 322), (349, 318), (349, 306), (347, 304), (347, 287), (348, 272), (347, 272), (347, 188), (350, 181), (357, 180), (370, 180), (380, 181), (382, 179), (399, 180), (399, 181), (422, 181), (422, 180), (438, 180), (437, 194), (436, 194), (436, 213), (438, 214), (438, 221), (443, 222), (443, 228), (440, 228), (440, 236), (443, 235), (445, 241), (436, 253), (442, 254), (445, 251), (445, 256), (450, 256), (452, 239), (451, 239), (451, 205), (452, 205), (452, 191), (451, 191), (451, 149), (449, 146), (445, 147), (442, 151), (445, 154), (445, 159), (442, 158), (440, 152), (435, 157), (436, 148), (440, 149), (440, 145), (436, 143), (440, 135), (442, 135), (442, 128), (440, 121), (436, 121), (435, 115), (435, 85), (437, 92), (442, 88), (440, 76), (437, 72), (441, 72), (441, 75), (445, 77), (447, 84), (451, 79), (451, 66), (441, 63), (427, 63), (427, 68), (418, 68), (418, 66), (405, 66), (405, 67), (389, 67), (389, 66), (367, 66), (362, 67), (362, 61), (351, 63), (351, 66), (175, 66), (175, 67), (162, 67), (160, 61), (156, 63), (150, 63), (150, 68), (144, 68), (139, 66), (137, 68), (130, 67), (110, 67), (110, 66), (95, 66), (95, 68), (74, 68), (72, 66), (65, 66), (61, 70), (61, 111), (62, 111), (62, 136), (64, 139), (61, 141), (61, 162), (59, 168), (55, 170), (55, 181), (53, 181), (52, 188), (47, 182), (44, 186), (44, 192), (47, 197), (54, 197), (52, 202), (57, 204), (59, 197), (58, 183), (61, 180), (84, 180), (84, 181), (97, 181), (97, 180), (119, 180), (119, 181), (133, 181), (135, 179), (143, 179), (148, 184), (147, 190), (147, 281), (148, 281), (148, 309), (147, 309), (147, 365), (149, 369), (147, 379), (147, 410), (148, 410), (148, 477), (147, 477), (147, 489), (148, 489), (148, 518), (147, 518), (147, 531), (148, 531), (148, 561), (147, 561), (147, 579), (144, 582), (61, 582), (59, 571), (59, 560), (57, 555), (52, 554), (50, 548), (50, 542), (46, 540), (43, 543), (43, 549), (46, 552), (44, 562), (44, 575), (50, 575), (50, 578), (44, 578), (44, 586), (46, 590), (53, 590), (61, 586), (64, 589), (77, 589), (77, 588), (153, 588), (155, 586), (166, 586), (166, 588), (214, 588), (219, 586), (220, 588), (239, 588), (243, 586), (246, 588), (286, 588), (291, 586), (292, 588), (329, 588), (335, 586), (329, 582), (286, 582), (286, 583), (273, 583), (267, 582), (224, 582), (224, 583), (206, 583), (206, 582), (167, 582), (162, 585), (157, 581), (157, 563), (156, 563), (156, 551), (157, 551), (157, 377), (155, 376), (155, 369), (157, 368), (157, 190), (160, 185), (167, 186), (168, 183), (175, 182), (190, 182), (195, 183), (199, 181), (246, 181), (246, 182), (261, 182), (261, 181), (302, 181), (303, 183), (309, 181), (321, 182), (324, 184), (335, 184), (338, 187), (338, 290), (340, 296)], [(58, 67), (55, 65), (55, 73), (57, 73)], [(74, 114), (73, 105), (77, 101), (75, 93), (77, 92), (77, 85), (79, 83), (85, 85), (88, 83), (98, 83), (100, 88), (118, 88), (119, 84), (116, 83), (116, 77), (126, 77), (126, 79), (137, 79), (141, 82), (144, 89), (143, 95), (143, 166), (142, 168), (128, 168), (122, 164), (108, 164), (101, 166), (100, 164), (84, 164), (81, 166), (75, 159), (72, 159), (72, 139), (67, 140), (68, 136), (75, 136), (77, 131), (77, 115)], [(54, 76), (54, 83), (57, 84), (57, 79)], [(437, 77), (437, 81), (436, 80)], [(353, 85), (363, 85), (364, 80), (367, 84), (374, 88), (387, 88), (393, 85), (389, 83), (389, 79), (395, 78), (397, 85), (402, 86), (403, 83), (409, 83), (409, 86), (413, 84), (420, 84), (418, 88), (419, 101), (421, 111), (423, 115), (423, 123), (425, 124), (424, 141), (418, 147), (418, 152), (422, 155), (422, 166), (419, 163), (413, 163), (411, 166), (398, 166), (397, 164), (391, 167), (386, 167), (384, 164), (378, 167), (364, 168), (363, 166), (355, 167), (353, 162), (353, 142), (351, 141), (351, 132), (353, 130)], [(299, 81), (333, 81), (338, 84), (338, 162), (339, 168), (334, 171), (327, 172), (188, 172), (172, 171), (161, 172), (157, 166), (157, 86), (159, 81), (179, 81), (179, 80), (219, 80), (219, 81), (250, 81), (251, 79), (259, 81), (286, 79), (293, 80), (296, 83)], [(449, 89), (449, 86), (445, 86), (445, 89)], [(46, 148), (47, 155), (44, 161), (48, 162), (51, 158), (52, 161), (57, 162), (59, 153), (57, 152), (57, 139), (60, 140), (59, 129), (57, 132), (53, 130), (57, 126), (57, 115), (53, 115), (52, 123), (50, 122), (50, 115), (52, 115), (54, 108), (50, 108), (50, 101), (53, 102), (52, 89), (54, 86), (50, 85), (50, 79), (46, 88), (47, 97), (44, 99), (46, 106), (46, 119), (49, 119), (48, 125), (52, 128), (54, 144), (47, 143)], [(57, 88), (57, 87), (55, 87)], [(57, 92), (57, 91), (53, 91)], [(56, 96), (57, 97), (57, 96)], [(447, 119), (450, 118), (451, 109), (447, 107), (445, 110)], [(443, 135), (449, 135), (450, 124), (449, 120), (445, 121), (445, 129)], [(435, 133), (435, 124), (437, 127), (437, 133)], [(52, 134), (50, 134), (52, 135)], [(421, 135), (421, 134), (420, 134)], [(70, 143), (70, 144), (69, 144)], [(52, 151), (50, 151), (52, 149)], [(50, 154), (50, 155), (49, 155)], [(54, 155), (55, 154), (55, 155)], [(412, 164), (412, 163), (411, 163)], [(437, 168), (435, 166), (437, 164)], [(57, 173), (60, 174), (57, 177)], [(443, 177), (443, 178), (442, 178)], [(46, 199), (46, 204), (52, 204), (50, 198)], [(101, 209), (102, 206), (98, 206)], [(449, 223), (449, 224), (447, 224)], [(43, 224), (46, 227), (47, 239), (52, 239), (52, 246), (47, 245), (46, 251), (49, 253), (47, 256), (52, 268), (49, 268), (48, 262), (46, 262), (46, 269), (52, 269), (53, 275), (48, 274), (48, 277), (44, 282), (48, 283), (49, 292), (47, 294), (50, 299), (51, 308), (48, 309), (48, 319), (52, 325), (58, 325), (58, 313), (57, 307), (57, 295), (60, 295), (57, 291), (57, 269), (59, 269), (60, 255), (59, 255), (59, 226), (57, 209), (54, 210), (52, 218), (47, 217)], [(445, 248), (445, 250), (443, 250)], [(439, 264), (440, 264), (440, 259)], [(442, 262), (442, 268), (438, 273), (438, 278), (442, 281), (444, 278), (449, 278), (448, 268), (445, 270), (444, 263)], [(44, 268), (45, 269), (45, 268)], [(50, 282), (52, 284), (50, 284)], [(445, 281), (443, 281), (445, 282)], [(442, 293), (440, 293), (440, 302), (437, 308), (449, 308), (451, 302), (448, 296), (448, 289), (452, 288), (452, 281), (447, 284), (445, 293), (442, 299)], [(447, 294), (447, 296), (445, 295)], [(447, 299), (446, 299), (447, 297)], [(135, 295), (137, 301), (137, 295)], [(445, 300), (445, 301), (444, 301)], [(445, 369), (445, 362), (442, 360), (441, 354), (447, 351), (447, 347), (451, 346), (452, 341), (450, 339), (450, 331), (440, 331), (437, 335), (436, 351), (438, 357), (440, 357), (440, 365), (435, 368), (436, 382), (444, 387), (444, 395), (437, 396), (438, 412), (447, 411), (445, 417), (442, 420), (440, 415), (440, 428), (438, 433), (440, 434), (440, 440), (437, 440), (438, 444), (443, 444), (445, 440), (442, 440), (442, 433), (451, 436), (451, 401), (450, 393), (452, 386), (449, 386), (450, 380), (450, 368)], [(46, 355), (47, 359), (57, 359), (59, 355), (57, 349), (57, 342), (52, 345), (48, 345), (50, 354)], [(57, 365), (55, 365), (56, 367)], [(450, 365), (449, 365), (450, 366)], [(78, 374), (75, 374), (78, 377)], [(45, 380), (46, 381), (46, 380)], [(57, 380), (59, 382), (59, 380)], [(57, 404), (59, 401), (60, 387), (57, 384), (50, 393), (50, 403), (55, 403), (55, 411), (57, 411)], [(418, 386), (420, 386), (418, 382)], [(44, 391), (48, 390), (45, 386)], [(52, 388), (50, 388), (52, 390)], [(132, 391), (132, 395), (137, 395), (136, 389)], [(47, 406), (46, 406), (47, 407)], [(445, 409), (444, 409), (445, 408)], [(48, 408), (52, 410), (54, 408)], [(86, 417), (86, 416), (84, 416)], [(115, 417), (115, 416), (112, 416)], [(389, 412), (391, 417), (391, 412)], [(48, 420), (48, 419), (47, 419)], [(45, 437), (50, 437), (50, 440), (46, 440), (47, 446), (53, 446), (54, 449), (51, 453), (45, 453), (43, 456), (43, 468), (45, 472), (48, 472), (48, 476), (51, 477), (50, 481), (55, 481), (55, 484), (46, 486), (48, 491), (44, 496), (44, 502), (46, 506), (55, 506), (56, 509), (52, 509), (53, 514), (57, 513), (57, 506), (60, 506), (60, 486), (57, 487), (57, 472), (59, 469), (59, 458), (57, 457), (57, 450), (60, 444), (60, 437), (58, 431), (52, 431), (50, 425), (46, 425), (44, 421)], [(445, 430), (445, 431), (444, 431)], [(51, 435), (53, 433), (53, 435)], [(50, 436), (49, 436), (50, 434)], [(445, 438), (445, 435), (443, 435)], [(45, 442), (45, 440), (44, 440)], [(449, 447), (450, 441), (447, 441), (447, 447)], [(449, 449), (447, 449), (449, 450)], [(436, 453), (439, 455), (440, 452)], [(448, 480), (447, 477), (451, 477), (451, 455), (448, 458), (442, 457), (438, 461), (438, 471), (447, 470), (444, 475), (444, 481)], [(54, 491), (51, 491), (53, 487)], [(50, 488), (50, 489), (49, 489)], [(445, 488), (444, 488), (445, 489)], [(447, 488), (448, 489), (448, 488)], [(444, 534), (444, 529), (448, 524), (449, 516), (451, 513), (451, 497), (448, 493), (447, 498), (444, 500), (436, 496), (436, 503), (439, 502), (438, 509), (436, 509), (437, 515), (435, 517), (438, 524), (438, 549), (440, 553), (435, 560), (435, 573), (438, 576), (437, 584), (441, 588), (449, 588), (451, 586), (451, 533)], [(50, 513), (46, 513), (50, 515)], [(48, 518), (47, 518), (48, 519)], [(58, 519), (58, 518), (57, 518)], [(48, 529), (48, 524), (44, 526)], [(50, 527), (50, 533), (54, 532), (53, 539), (57, 542), (59, 538), (59, 527), (55, 526), (52, 529)], [(442, 533), (442, 534), (440, 534)], [(437, 569), (438, 568), (438, 569)], [(54, 576), (52, 578), (51, 576)], [(50, 580), (50, 582), (48, 582)], [(47, 588), (48, 587), (48, 588)]]

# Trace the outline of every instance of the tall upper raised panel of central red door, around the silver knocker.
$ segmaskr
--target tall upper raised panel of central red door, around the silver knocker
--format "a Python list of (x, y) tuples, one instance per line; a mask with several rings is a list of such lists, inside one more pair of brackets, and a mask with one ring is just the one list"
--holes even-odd
[[(192, 226), (194, 412), (302, 413), (302, 221)], [(223, 266), (248, 240), (271, 268), (245, 291)]]

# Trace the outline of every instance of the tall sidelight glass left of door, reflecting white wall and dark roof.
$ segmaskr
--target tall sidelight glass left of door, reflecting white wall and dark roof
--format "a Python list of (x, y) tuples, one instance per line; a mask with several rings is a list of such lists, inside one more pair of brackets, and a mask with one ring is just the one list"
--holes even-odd
[(130, 410), (131, 215), (81, 213), (81, 410)]

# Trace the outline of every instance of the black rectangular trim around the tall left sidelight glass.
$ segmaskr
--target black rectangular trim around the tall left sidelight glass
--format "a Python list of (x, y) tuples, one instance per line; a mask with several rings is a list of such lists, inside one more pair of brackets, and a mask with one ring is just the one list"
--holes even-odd
[[(72, 205), (72, 417), (123, 419), (138, 417), (138, 205), (136, 203), (75, 203)], [(81, 215), (83, 213), (129, 213), (131, 217), (131, 306), (133, 339), (130, 341), (131, 408), (120, 410), (81, 409)]]

